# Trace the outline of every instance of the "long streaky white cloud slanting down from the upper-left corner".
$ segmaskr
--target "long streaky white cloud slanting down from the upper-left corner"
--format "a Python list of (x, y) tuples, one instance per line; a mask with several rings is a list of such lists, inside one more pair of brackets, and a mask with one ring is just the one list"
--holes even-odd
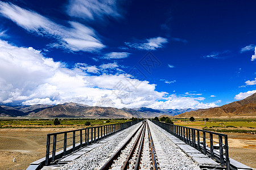
[(105, 47), (93, 28), (77, 22), (69, 22), (71, 27), (65, 27), (34, 11), (6, 2), (0, 2), (0, 14), (28, 32), (55, 38), (56, 42), (49, 45), (53, 48), (92, 52)]

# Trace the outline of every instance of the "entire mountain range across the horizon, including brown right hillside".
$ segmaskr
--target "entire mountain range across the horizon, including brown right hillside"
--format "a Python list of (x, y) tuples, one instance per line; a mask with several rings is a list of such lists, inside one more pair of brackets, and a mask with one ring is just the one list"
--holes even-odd
[(152, 108), (112, 108), (92, 107), (77, 103), (58, 105), (31, 105), (10, 107), (0, 105), (0, 117), (86, 117), (86, 118), (131, 118), (131, 117), (220, 117), (256, 116), (256, 93), (240, 101), (209, 109), (152, 109)]

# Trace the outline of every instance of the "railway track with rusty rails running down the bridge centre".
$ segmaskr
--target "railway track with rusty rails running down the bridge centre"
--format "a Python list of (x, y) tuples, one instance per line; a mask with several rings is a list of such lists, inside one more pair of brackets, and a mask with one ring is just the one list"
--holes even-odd
[(101, 167), (101, 170), (105, 169), (158, 169), (154, 142), (147, 122), (143, 122), (138, 130)]

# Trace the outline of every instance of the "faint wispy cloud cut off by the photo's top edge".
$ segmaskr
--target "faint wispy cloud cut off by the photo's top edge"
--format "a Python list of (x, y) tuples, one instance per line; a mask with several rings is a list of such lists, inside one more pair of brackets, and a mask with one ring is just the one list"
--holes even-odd
[(82, 18), (85, 20), (101, 19), (105, 17), (120, 18), (117, 1), (100, 1), (100, 0), (70, 0), (67, 12), (70, 16)]

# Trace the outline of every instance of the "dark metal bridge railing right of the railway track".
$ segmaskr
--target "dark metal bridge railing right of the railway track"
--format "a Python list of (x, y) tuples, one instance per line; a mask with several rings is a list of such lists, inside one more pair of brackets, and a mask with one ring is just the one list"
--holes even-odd
[(219, 162), (222, 167), (226, 166), (226, 169), (230, 169), (228, 135), (154, 120), (152, 122), (187, 145), (196, 148), (205, 155), (209, 155), (210, 158)]

